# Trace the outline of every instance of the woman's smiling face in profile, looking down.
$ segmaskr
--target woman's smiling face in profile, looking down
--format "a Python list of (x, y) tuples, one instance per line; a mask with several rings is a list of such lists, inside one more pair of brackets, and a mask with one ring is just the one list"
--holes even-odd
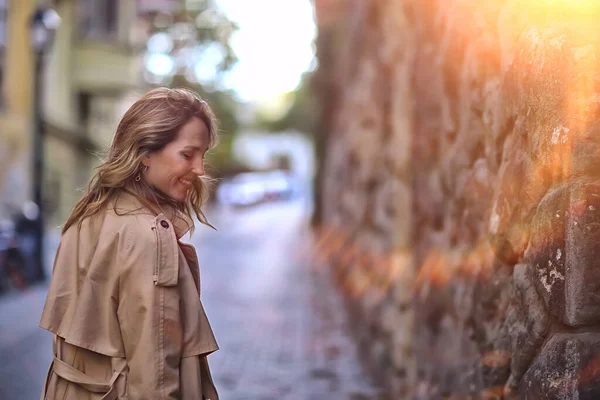
[(146, 182), (177, 201), (185, 201), (194, 179), (204, 175), (204, 154), (208, 150), (206, 124), (192, 118), (164, 149), (146, 156)]

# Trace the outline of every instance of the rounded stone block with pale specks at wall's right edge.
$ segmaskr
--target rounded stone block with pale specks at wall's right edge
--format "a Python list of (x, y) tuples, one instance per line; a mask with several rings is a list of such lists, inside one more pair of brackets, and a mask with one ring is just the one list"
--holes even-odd
[(533, 221), (526, 259), (536, 287), (561, 322), (600, 322), (600, 181), (548, 193)]

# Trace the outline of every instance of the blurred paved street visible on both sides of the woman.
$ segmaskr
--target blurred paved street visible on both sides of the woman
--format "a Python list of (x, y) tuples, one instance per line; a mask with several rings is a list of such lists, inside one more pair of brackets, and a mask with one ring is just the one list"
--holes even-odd
[[(220, 346), (209, 362), (221, 399), (377, 399), (341, 297), (311, 272), (305, 203), (208, 217), (219, 230), (198, 226), (189, 241)], [(0, 298), (0, 399), (39, 398), (51, 358), (51, 335), (38, 328), (45, 295), (40, 286)]]

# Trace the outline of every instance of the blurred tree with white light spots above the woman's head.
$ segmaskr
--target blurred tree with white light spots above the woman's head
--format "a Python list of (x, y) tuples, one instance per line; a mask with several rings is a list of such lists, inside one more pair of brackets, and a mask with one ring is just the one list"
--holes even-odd
[(230, 40), (237, 26), (214, 0), (182, 1), (172, 10), (153, 10), (144, 17), (145, 78), (149, 84), (187, 87), (206, 100), (219, 119), (219, 146), (207, 154), (211, 176), (233, 168), (231, 147), (239, 129), (238, 102), (221, 89), (223, 74), (237, 62)]

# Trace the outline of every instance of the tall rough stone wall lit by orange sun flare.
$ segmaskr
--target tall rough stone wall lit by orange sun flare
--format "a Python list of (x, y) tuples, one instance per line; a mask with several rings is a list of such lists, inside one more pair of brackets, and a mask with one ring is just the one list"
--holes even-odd
[(349, 0), (320, 246), (392, 398), (600, 398), (599, 17)]

